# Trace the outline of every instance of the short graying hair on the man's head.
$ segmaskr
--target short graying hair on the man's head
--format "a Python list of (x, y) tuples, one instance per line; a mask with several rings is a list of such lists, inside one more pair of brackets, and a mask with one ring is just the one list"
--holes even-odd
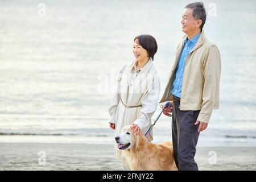
[(206, 21), (206, 11), (203, 2), (193, 2), (185, 6), (185, 8), (191, 8), (193, 10), (193, 17), (195, 20), (201, 19), (202, 24), (200, 26), (201, 31), (203, 30), (204, 23)]

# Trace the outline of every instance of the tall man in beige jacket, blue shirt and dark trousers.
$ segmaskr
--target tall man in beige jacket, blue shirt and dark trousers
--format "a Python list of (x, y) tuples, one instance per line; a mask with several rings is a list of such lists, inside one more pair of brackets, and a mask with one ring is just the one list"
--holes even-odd
[[(199, 133), (207, 128), (213, 109), (218, 109), (221, 59), (217, 46), (204, 34), (203, 3), (185, 6), (182, 31), (166, 90), (160, 102), (172, 101), (172, 143), (179, 170), (198, 170), (195, 162)], [(165, 108), (165, 107), (164, 107)], [(169, 115), (170, 107), (164, 109)]]

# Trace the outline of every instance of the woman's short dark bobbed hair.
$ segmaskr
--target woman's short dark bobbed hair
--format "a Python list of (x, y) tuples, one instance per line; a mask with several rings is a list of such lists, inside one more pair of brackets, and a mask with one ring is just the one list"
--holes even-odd
[(136, 39), (138, 39), (138, 44), (146, 49), (148, 57), (152, 57), (152, 60), (154, 60), (154, 55), (156, 51), (158, 51), (158, 44), (156, 43), (155, 38), (151, 35), (138, 35), (134, 38), (134, 41)]

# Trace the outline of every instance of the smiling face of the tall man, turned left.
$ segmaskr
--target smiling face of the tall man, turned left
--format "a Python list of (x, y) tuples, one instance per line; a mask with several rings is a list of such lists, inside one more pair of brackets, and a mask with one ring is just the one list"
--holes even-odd
[(193, 9), (186, 8), (183, 11), (181, 25), (182, 25), (182, 31), (185, 34), (188, 34), (189, 32), (193, 32), (197, 29), (196, 26), (198, 25), (196, 20), (193, 18)]

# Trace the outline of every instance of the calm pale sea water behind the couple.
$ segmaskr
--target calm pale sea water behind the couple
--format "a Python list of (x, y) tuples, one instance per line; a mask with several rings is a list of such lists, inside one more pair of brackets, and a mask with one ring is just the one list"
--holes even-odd
[[(44, 1), (40, 17), (38, 2), (1, 0), (0, 142), (114, 143), (108, 107), (115, 74), (134, 59), (134, 37), (157, 40), (163, 93), (187, 3)], [(204, 3), (204, 29), (220, 49), (222, 75), (220, 110), (198, 145), (256, 146), (256, 2)], [(170, 118), (160, 117), (154, 136), (171, 140)]]

